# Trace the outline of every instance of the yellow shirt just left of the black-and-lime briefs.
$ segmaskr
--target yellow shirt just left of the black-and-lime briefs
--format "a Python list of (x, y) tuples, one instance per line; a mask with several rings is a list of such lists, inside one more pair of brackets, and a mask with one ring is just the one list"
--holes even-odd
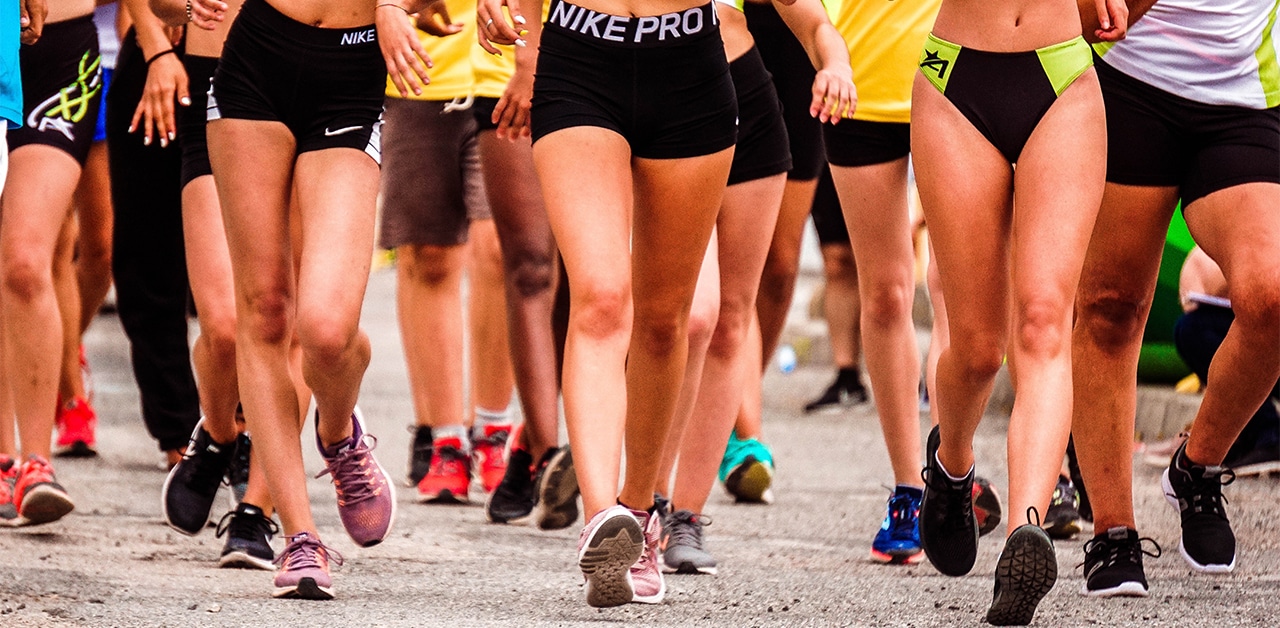
[(835, 24), (849, 43), (855, 120), (911, 122), (911, 82), (942, 0), (844, 0)]

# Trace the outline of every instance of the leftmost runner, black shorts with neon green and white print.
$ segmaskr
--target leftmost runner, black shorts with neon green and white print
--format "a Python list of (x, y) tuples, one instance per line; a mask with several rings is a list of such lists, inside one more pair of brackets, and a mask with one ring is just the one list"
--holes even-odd
[(24, 460), (9, 524), (56, 521), (74, 508), (49, 464), (64, 333), (52, 261), (93, 141), (102, 83), (93, 3), (55, 0), (49, 9), (40, 40), (19, 51), (23, 124), (8, 133), (9, 184), (0, 200), (0, 326)]

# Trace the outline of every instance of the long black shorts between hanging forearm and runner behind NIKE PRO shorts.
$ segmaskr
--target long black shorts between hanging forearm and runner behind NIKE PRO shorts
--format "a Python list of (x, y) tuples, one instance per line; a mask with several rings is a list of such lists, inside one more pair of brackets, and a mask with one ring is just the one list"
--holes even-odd
[(787, 179), (814, 180), (827, 164), (827, 153), (822, 147), (822, 123), (809, 115), (815, 74), (813, 61), (791, 28), (782, 22), (773, 3), (746, 3), (742, 13), (782, 101), (782, 122), (787, 125), (791, 146)]

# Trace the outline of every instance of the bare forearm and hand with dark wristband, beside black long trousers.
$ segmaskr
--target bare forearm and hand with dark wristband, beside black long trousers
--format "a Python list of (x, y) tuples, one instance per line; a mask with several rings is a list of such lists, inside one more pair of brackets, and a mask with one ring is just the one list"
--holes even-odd
[(137, 33), (138, 47), (142, 49), (142, 58), (147, 60), (147, 83), (142, 91), (142, 100), (133, 113), (133, 122), (129, 123), (129, 132), (143, 129), (142, 143), (151, 145), (152, 138), (160, 138), (160, 146), (169, 146), (169, 142), (178, 137), (178, 125), (174, 118), (174, 101), (183, 106), (191, 105), (187, 93), (187, 70), (182, 65), (182, 59), (173, 51), (173, 42), (165, 33), (164, 23), (160, 22), (147, 0), (123, 0), (124, 9), (133, 18), (133, 29)]

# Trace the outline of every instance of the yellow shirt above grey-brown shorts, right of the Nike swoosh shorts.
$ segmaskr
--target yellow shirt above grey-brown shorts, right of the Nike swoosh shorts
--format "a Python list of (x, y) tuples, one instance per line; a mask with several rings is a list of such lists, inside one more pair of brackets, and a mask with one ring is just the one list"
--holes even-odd
[[(449, 18), (454, 23), (462, 24), (462, 32), (448, 37), (417, 32), (417, 37), (422, 41), (422, 47), (426, 49), (434, 67), (426, 70), (431, 83), (422, 87), (421, 95), (410, 92), (408, 97), (412, 100), (453, 100), (471, 95), (474, 81), (471, 50), (475, 49), (484, 54), (484, 50), (476, 43), (476, 3), (475, 0), (444, 0), (444, 6), (449, 12)], [(387, 96), (403, 97), (390, 78), (387, 79)]]

